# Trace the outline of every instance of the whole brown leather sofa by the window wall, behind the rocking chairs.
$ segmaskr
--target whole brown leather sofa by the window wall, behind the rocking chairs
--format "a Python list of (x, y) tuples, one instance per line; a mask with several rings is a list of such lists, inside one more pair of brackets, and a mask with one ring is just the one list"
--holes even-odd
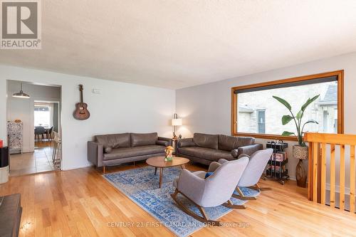
[(253, 137), (194, 133), (193, 138), (179, 139), (176, 154), (178, 157), (187, 157), (192, 162), (210, 164), (219, 159), (238, 159), (240, 154), (251, 155), (260, 149), (263, 149), (263, 145), (255, 144)]

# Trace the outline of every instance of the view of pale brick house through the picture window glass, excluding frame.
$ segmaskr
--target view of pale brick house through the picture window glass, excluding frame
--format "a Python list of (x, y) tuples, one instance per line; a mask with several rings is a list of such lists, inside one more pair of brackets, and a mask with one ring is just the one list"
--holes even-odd
[(298, 85), (289, 88), (258, 90), (238, 94), (237, 131), (281, 135), (283, 131), (295, 132), (292, 121), (282, 125), (283, 115), (289, 111), (273, 95), (287, 100), (294, 115), (308, 98), (320, 95), (306, 110), (303, 122), (316, 120), (319, 124), (305, 125), (305, 132), (337, 133), (337, 82)]

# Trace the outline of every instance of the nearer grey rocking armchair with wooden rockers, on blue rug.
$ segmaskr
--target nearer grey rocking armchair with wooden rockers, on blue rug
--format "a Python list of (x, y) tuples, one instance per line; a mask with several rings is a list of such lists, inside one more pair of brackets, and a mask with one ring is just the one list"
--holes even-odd
[[(204, 179), (206, 172), (199, 171), (192, 173), (187, 169), (183, 169), (179, 178), (174, 179), (173, 185), (176, 189), (171, 196), (182, 211), (196, 218), (198, 221), (219, 226), (219, 221), (209, 220), (209, 217), (204, 211), (204, 207), (224, 205), (229, 208), (241, 209), (241, 206), (232, 204), (230, 199), (244, 169), (246, 169), (248, 157), (225, 162), (221, 165), (218, 164), (218, 166), (216, 166), (215, 163), (209, 167), (209, 171), (216, 170), (206, 179)], [(184, 206), (184, 204), (177, 199), (178, 194), (182, 194), (189, 199), (189, 201), (192, 201), (192, 203), (198, 207), (201, 216)]]

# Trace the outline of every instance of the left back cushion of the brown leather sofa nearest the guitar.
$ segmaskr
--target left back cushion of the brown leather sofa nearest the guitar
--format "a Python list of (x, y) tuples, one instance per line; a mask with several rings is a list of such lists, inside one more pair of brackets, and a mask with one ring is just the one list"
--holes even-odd
[(130, 133), (98, 135), (95, 136), (95, 142), (112, 149), (130, 147)]

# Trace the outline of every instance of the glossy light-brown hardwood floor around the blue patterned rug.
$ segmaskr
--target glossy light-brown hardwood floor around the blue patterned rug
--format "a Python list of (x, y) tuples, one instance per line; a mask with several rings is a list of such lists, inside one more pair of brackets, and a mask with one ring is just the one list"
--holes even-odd
[[(132, 168), (133, 164), (127, 164), (109, 167), (108, 172)], [(246, 210), (234, 210), (221, 218), (247, 227), (206, 227), (192, 236), (356, 236), (355, 215), (308, 201), (307, 190), (293, 181), (282, 186), (261, 180), (260, 185), (272, 190), (263, 191), (257, 201), (248, 201)], [(13, 193), (21, 193), (20, 236), (174, 236), (164, 226), (110, 228), (112, 221), (156, 220), (94, 168), (11, 177), (0, 185), (0, 194)]]

